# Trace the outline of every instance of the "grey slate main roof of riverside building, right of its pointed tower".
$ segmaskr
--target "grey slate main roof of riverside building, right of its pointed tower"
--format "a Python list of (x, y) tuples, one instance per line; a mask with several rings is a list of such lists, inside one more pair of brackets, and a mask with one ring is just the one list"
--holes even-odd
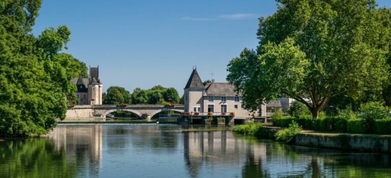
[(241, 96), (235, 92), (235, 86), (227, 82), (212, 82), (205, 86), (207, 96)]

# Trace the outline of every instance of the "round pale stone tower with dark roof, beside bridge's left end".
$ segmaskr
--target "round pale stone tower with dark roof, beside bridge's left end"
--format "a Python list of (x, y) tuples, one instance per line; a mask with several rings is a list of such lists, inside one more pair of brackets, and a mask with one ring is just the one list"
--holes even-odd
[(88, 101), (91, 105), (102, 104), (102, 82), (99, 79), (99, 66), (90, 67), (88, 83)]

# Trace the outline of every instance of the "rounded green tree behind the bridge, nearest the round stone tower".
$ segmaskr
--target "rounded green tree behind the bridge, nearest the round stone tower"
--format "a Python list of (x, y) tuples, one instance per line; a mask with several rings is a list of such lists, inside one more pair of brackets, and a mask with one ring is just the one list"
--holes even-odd
[(132, 103), (132, 98), (129, 91), (120, 86), (110, 86), (107, 89), (107, 93), (102, 95), (102, 98), (103, 104)]

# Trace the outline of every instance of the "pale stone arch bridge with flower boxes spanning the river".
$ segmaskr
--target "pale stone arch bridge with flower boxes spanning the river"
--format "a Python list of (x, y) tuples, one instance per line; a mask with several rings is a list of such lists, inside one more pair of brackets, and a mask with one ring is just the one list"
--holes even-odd
[(76, 105), (67, 110), (65, 118), (106, 118), (106, 115), (114, 111), (129, 111), (139, 118), (152, 118), (153, 115), (162, 111), (183, 112), (183, 105), (167, 107), (159, 104), (131, 104), (126, 107), (117, 105)]

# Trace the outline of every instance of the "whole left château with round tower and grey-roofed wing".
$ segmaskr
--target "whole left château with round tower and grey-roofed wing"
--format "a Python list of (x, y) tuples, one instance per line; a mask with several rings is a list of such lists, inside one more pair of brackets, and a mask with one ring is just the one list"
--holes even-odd
[[(99, 66), (90, 67), (90, 77), (72, 78), (71, 81), (76, 85), (76, 97), (79, 99), (79, 105), (101, 105), (102, 104), (102, 81), (99, 79)], [(73, 101), (68, 101), (73, 103)]]

